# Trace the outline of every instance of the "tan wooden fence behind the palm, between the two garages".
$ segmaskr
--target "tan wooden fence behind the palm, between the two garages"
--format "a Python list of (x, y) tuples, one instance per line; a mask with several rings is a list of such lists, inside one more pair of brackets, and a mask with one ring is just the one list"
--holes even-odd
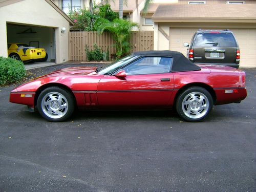
[[(69, 60), (86, 61), (85, 46), (93, 50), (93, 45), (97, 44), (102, 51), (115, 54), (115, 41), (111, 33), (98, 35), (96, 31), (69, 32)], [(134, 31), (130, 39), (132, 52), (148, 51), (154, 49), (154, 31)]]

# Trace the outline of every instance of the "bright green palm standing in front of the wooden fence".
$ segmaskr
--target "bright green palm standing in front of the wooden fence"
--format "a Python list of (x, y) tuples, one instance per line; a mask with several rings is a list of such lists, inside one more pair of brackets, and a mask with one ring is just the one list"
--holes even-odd
[(138, 27), (138, 24), (122, 18), (116, 18), (113, 22), (110, 22), (108, 19), (98, 19), (95, 25), (99, 34), (102, 34), (104, 31), (112, 33), (113, 38), (116, 41), (115, 46), (118, 57), (130, 52), (131, 31), (133, 27)]

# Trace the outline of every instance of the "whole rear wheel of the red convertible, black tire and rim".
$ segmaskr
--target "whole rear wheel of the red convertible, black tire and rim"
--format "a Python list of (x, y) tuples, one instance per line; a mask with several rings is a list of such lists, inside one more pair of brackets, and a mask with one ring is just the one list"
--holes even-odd
[(177, 113), (186, 121), (203, 120), (212, 109), (211, 94), (202, 87), (190, 87), (182, 91), (176, 100)]

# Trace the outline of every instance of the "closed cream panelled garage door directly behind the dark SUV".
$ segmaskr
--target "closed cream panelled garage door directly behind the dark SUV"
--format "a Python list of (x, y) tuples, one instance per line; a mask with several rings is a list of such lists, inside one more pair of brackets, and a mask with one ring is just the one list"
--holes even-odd
[[(217, 28), (215, 28), (217, 29)], [(170, 28), (169, 49), (186, 56), (184, 42), (189, 42), (198, 28)], [(237, 38), (241, 60), (240, 67), (256, 67), (256, 29), (230, 29)]]

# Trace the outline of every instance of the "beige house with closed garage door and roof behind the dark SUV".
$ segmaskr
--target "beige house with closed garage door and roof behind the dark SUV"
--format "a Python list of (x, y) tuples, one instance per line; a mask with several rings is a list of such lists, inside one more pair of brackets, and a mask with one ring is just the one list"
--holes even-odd
[[(199, 29), (229, 29), (237, 38), (240, 67), (256, 67), (256, 1), (154, 0), (146, 13), (144, 1), (127, 0), (123, 13), (140, 24), (142, 31), (154, 30), (154, 50), (173, 50), (186, 55), (184, 42), (190, 42)], [(114, 11), (118, 4), (111, 2)], [(138, 10), (137, 10), (138, 7)]]

